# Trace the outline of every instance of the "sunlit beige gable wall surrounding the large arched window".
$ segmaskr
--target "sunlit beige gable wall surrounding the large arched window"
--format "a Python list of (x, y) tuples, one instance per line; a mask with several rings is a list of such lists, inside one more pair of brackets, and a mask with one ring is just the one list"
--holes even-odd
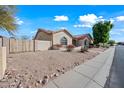
[(53, 34), (53, 45), (54, 44), (61, 44), (60, 40), (62, 37), (65, 37), (68, 40), (68, 42), (67, 42), (68, 45), (72, 44), (72, 37), (71, 36), (69, 36), (65, 32), (59, 32), (59, 33)]

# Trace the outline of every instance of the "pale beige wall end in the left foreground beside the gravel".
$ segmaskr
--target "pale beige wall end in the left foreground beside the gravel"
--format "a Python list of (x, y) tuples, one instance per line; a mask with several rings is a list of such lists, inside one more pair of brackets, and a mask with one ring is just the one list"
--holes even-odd
[(0, 79), (3, 78), (6, 70), (6, 47), (0, 47)]

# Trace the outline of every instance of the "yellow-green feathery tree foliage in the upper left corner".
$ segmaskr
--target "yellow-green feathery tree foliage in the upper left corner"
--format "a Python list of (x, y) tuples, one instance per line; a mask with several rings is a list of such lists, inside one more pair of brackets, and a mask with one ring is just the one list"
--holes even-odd
[(0, 29), (10, 34), (13, 34), (17, 29), (14, 12), (15, 6), (0, 5)]

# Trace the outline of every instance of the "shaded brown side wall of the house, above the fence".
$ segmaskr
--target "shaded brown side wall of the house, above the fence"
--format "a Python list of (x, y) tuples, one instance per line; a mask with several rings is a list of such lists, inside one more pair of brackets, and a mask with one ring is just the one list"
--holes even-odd
[(35, 38), (35, 40), (46, 40), (51, 41), (52, 35), (46, 34), (45, 32), (39, 32)]

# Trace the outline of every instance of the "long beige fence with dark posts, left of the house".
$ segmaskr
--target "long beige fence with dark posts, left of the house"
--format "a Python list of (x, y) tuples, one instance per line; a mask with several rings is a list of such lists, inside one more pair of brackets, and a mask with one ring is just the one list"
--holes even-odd
[(51, 47), (51, 41), (17, 40), (0, 37), (0, 46), (5, 46), (8, 53), (35, 52), (48, 50)]

